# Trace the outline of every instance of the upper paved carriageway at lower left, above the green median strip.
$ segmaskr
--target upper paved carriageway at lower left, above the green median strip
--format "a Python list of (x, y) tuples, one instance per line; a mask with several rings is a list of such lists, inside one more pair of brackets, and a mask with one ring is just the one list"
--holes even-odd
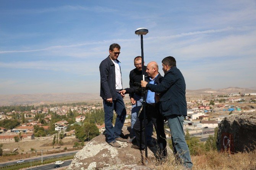
[[(68, 152), (68, 153), (59, 153), (59, 154), (51, 154), (50, 156), (43, 156), (43, 160), (44, 159), (51, 159), (51, 158), (58, 158), (58, 157), (63, 157), (63, 156), (70, 156), (70, 155), (73, 155), (73, 154), (75, 154), (76, 152), (78, 152), (78, 151), (73, 151), (73, 152)], [(42, 159), (42, 157), (32, 157), (31, 158), (31, 161), (33, 162), (33, 161), (38, 161), (38, 160), (41, 160)], [(25, 160), (25, 162), (30, 162), (30, 159), (28, 159), (28, 158), (26, 158), (26, 159), (24, 159)], [(18, 160), (15, 160), (15, 161), (12, 161), (12, 162), (6, 162), (6, 163), (1, 163), (0, 164), (0, 167), (4, 167), (4, 166), (8, 166), (8, 165), (15, 165), (15, 164), (17, 164), (16, 162), (17, 162)]]

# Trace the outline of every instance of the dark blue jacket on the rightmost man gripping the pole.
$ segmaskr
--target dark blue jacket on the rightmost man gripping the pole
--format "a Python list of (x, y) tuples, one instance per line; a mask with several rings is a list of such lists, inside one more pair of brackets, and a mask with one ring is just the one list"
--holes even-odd
[(158, 85), (147, 83), (146, 88), (160, 94), (162, 115), (187, 115), (186, 83), (180, 70), (173, 66)]

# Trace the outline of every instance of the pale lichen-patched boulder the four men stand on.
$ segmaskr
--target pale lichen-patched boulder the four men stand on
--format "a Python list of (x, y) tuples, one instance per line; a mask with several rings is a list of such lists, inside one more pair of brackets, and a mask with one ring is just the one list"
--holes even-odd
[[(123, 135), (128, 137), (127, 127), (123, 128)], [(145, 151), (131, 148), (131, 144), (117, 141), (121, 147), (115, 148), (105, 141), (104, 135), (92, 139), (79, 152), (76, 153), (68, 170), (148, 170), (142, 166), (145, 163)], [(148, 148), (147, 163), (156, 163), (157, 145), (154, 139), (154, 147)], [(170, 148), (168, 148), (171, 153)]]

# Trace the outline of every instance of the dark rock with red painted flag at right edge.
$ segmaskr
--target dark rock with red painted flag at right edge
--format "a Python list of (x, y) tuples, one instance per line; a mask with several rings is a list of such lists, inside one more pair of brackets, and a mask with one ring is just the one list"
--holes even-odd
[(256, 113), (228, 115), (219, 125), (219, 151), (248, 152), (256, 149)]

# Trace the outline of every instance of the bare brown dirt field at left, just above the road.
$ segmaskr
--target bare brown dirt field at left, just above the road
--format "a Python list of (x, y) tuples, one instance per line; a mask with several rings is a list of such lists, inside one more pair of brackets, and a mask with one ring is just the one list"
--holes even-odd
[[(4, 153), (10, 153), (14, 149), (18, 148), (19, 153), (29, 153), (31, 148), (34, 148), (34, 150), (37, 150), (37, 152), (40, 152), (41, 149), (43, 149), (43, 152), (47, 151), (54, 151), (56, 148), (60, 147), (58, 150), (66, 148), (73, 148), (73, 145), (75, 141), (78, 141), (76, 138), (64, 138), (62, 140), (63, 145), (61, 146), (54, 146), (55, 149), (52, 148), (52, 140), (32, 140), (32, 141), (20, 141), (18, 143), (11, 142), (11, 143), (2, 143), (3, 144), (3, 152)], [(86, 143), (85, 143), (86, 144)]]

